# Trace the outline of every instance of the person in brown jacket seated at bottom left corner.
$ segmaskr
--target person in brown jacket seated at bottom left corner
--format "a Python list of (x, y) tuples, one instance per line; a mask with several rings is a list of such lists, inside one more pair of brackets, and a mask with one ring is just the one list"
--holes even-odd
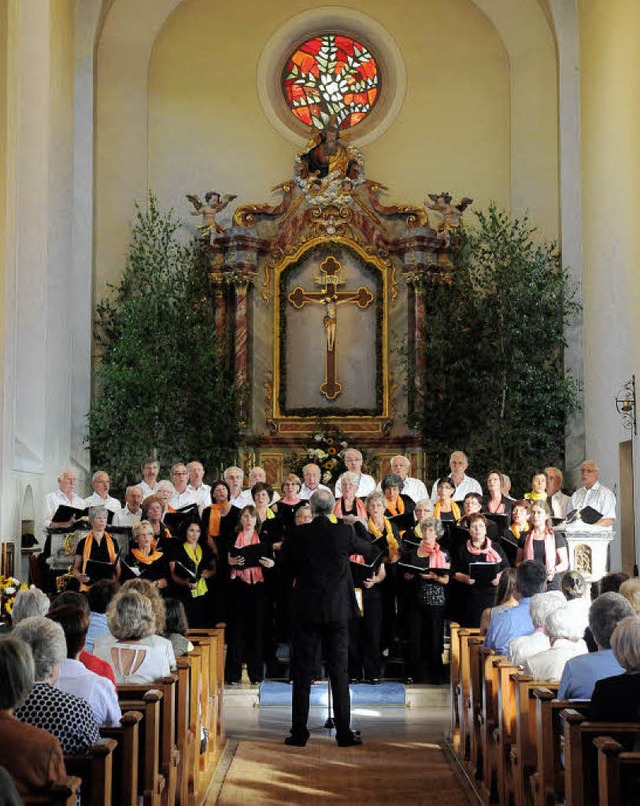
[[(28, 645), (12, 635), (0, 638), (0, 765), (22, 796), (63, 784), (67, 777), (58, 739), (14, 715), (32, 691), (34, 677)], [(4, 795), (3, 789), (0, 799)]]

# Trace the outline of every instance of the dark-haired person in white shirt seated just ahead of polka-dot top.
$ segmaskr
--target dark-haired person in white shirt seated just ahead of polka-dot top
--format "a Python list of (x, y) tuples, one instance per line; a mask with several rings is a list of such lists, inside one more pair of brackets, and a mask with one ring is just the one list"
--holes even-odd
[(89, 671), (79, 660), (89, 628), (88, 613), (79, 607), (62, 605), (54, 607), (49, 618), (60, 624), (67, 642), (67, 658), (60, 666), (55, 688), (86, 700), (98, 725), (118, 724), (122, 714), (115, 686)]

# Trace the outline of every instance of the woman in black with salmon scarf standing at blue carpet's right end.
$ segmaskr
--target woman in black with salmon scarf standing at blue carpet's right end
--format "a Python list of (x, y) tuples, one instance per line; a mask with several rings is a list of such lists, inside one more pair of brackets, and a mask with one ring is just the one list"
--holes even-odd
[[(445, 585), (448, 574), (437, 570), (451, 567), (448, 552), (438, 544), (444, 534), (437, 518), (420, 523), (422, 540), (418, 546), (405, 544), (400, 568), (404, 581), (404, 612), (409, 632), (409, 677), (407, 682), (422, 682), (422, 657), (427, 659), (427, 682), (442, 680), (444, 644)], [(417, 568), (424, 568), (418, 571)], [(434, 570), (435, 569), (435, 570)]]

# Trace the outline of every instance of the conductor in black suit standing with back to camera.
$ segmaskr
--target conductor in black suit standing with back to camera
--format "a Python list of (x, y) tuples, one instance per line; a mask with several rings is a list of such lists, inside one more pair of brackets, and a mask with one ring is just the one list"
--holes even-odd
[(329, 520), (335, 506), (329, 491), (318, 490), (309, 503), (313, 521), (292, 530), (280, 550), (280, 564), (295, 580), (291, 735), (284, 743), (304, 747), (309, 738), (309, 692), (322, 641), (333, 690), (336, 741), (339, 747), (351, 747), (362, 740), (350, 726), (348, 624), (357, 615), (357, 603), (349, 557), (361, 554), (371, 562), (377, 552), (351, 526)]

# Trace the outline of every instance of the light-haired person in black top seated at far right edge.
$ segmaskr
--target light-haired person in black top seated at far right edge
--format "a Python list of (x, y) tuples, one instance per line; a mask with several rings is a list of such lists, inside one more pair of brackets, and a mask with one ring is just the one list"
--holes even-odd
[(640, 616), (623, 618), (611, 636), (613, 656), (623, 674), (598, 680), (587, 719), (596, 722), (638, 722), (640, 707)]

